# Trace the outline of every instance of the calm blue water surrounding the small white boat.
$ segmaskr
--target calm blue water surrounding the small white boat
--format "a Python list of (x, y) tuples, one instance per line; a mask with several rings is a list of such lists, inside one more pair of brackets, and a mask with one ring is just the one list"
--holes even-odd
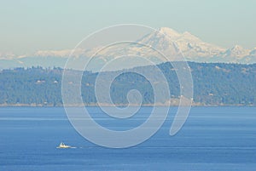
[[(98, 108), (89, 110), (103, 126), (127, 129), (143, 123), (151, 108), (121, 123)], [(182, 130), (171, 137), (176, 110), (143, 144), (108, 149), (81, 137), (63, 108), (0, 108), (0, 170), (256, 169), (255, 107), (194, 107)], [(78, 148), (56, 149), (61, 141)]]

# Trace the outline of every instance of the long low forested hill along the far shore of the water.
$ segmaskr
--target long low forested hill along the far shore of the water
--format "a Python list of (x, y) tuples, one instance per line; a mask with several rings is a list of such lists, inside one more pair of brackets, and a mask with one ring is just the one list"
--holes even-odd
[[(195, 105), (256, 105), (256, 64), (218, 64), (189, 62), (194, 82)], [(151, 66), (137, 69), (150, 71)], [(170, 63), (160, 64), (172, 94), (172, 105), (177, 105), (179, 84)], [(171, 68), (171, 69), (170, 69)], [(61, 68), (0, 71), (0, 105), (62, 105)], [(73, 71), (75, 72), (75, 71)], [(106, 72), (106, 76), (111, 72)], [(84, 104), (95, 105), (94, 84), (97, 73), (84, 72), (82, 96)], [(117, 77), (111, 87), (111, 97), (115, 104), (127, 104), (126, 95), (137, 89), (143, 96), (143, 104), (154, 102), (153, 88), (138, 74), (127, 72)], [(162, 100), (161, 103), (165, 103)]]

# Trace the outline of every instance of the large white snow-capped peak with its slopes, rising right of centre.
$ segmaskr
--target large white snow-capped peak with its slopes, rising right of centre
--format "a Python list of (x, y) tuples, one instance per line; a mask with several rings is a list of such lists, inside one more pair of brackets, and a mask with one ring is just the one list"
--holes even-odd
[[(179, 33), (167, 27), (162, 27), (158, 31), (145, 35), (138, 39), (137, 43), (149, 45), (165, 54), (175, 54), (173, 52), (175, 51), (173, 43), (175, 43), (186, 60), (197, 62), (253, 63), (256, 56), (256, 48), (249, 50), (236, 45), (233, 48), (226, 49), (212, 43), (206, 43), (188, 31)], [(93, 54), (91, 50), (88, 50), (84, 55), (89, 56), (89, 53)], [(155, 56), (156, 52), (145, 47), (137, 47), (134, 44), (126, 44), (108, 48), (99, 53), (98, 57), (107, 61), (113, 56), (121, 54), (140, 55), (152, 60), (152, 56)]]

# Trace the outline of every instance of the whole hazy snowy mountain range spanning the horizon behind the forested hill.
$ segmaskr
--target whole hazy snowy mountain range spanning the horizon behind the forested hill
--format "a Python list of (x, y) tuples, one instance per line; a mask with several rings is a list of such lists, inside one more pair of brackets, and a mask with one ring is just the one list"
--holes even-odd
[[(160, 32), (160, 33), (159, 33)], [(170, 38), (170, 41), (166, 37)], [(171, 41), (172, 40), (172, 41)], [(179, 33), (171, 28), (162, 27), (159, 31), (153, 31), (148, 35), (144, 35), (137, 40), (137, 43), (147, 44), (149, 46), (157, 47), (162, 52), (170, 53), (172, 49), (172, 42), (177, 44), (177, 48), (183, 53), (186, 60), (195, 62), (228, 62), (228, 63), (242, 63), (252, 64), (256, 63), (256, 48), (246, 49), (239, 45), (233, 48), (222, 48), (211, 43), (203, 42), (199, 37), (195, 37), (188, 31)], [(170, 48), (171, 47), (171, 48)], [(88, 59), (92, 54), (95, 54), (97, 50), (102, 47), (96, 47), (93, 49), (77, 48), (73, 52), (73, 57)], [(64, 67), (67, 58), (71, 50), (40, 50), (35, 54), (15, 56), (15, 54), (0, 54), (0, 69), (14, 68), (14, 67), (31, 67), (31, 66), (43, 66), (43, 67)], [(112, 60), (114, 56), (119, 54), (134, 54), (140, 55), (152, 60), (155, 52), (134, 46), (133, 44), (122, 44), (113, 48), (108, 48), (96, 54), (95, 64), (91, 66), (92, 70), (98, 70), (98, 63), (106, 63)], [(175, 60), (175, 59), (172, 59)], [(79, 60), (78, 60), (79, 62)], [(155, 61), (160, 63), (163, 61)], [(143, 66), (143, 63), (138, 63), (136, 66)], [(133, 67), (131, 65), (131, 67)], [(122, 69), (122, 68), (117, 68)]]

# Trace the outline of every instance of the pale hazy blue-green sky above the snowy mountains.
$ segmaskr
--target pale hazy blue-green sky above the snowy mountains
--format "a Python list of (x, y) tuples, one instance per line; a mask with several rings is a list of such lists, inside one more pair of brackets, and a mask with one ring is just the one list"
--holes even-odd
[(255, 0), (0, 0), (0, 52), (73, 48), (90, 32), (122, 23), (167, 26), (225, 48), (254, 48), (255, 7)]

